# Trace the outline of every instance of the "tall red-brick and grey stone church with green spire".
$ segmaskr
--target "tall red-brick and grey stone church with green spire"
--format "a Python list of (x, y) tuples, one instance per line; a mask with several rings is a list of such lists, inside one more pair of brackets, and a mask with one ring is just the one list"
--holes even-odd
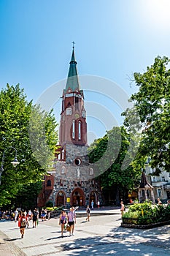
[(49, 202), (53, 206), (85, 207), (92, 200), (94, 205), (98, 200), (102, 204), (100, 182), (94, 179), (88, 159), (85, 99), (80, 89), (74, 43), (66, 87), (61, 98), (59, 145), (55, 151), (53, 172), (44, 177), (37, 207), (44, 207)]

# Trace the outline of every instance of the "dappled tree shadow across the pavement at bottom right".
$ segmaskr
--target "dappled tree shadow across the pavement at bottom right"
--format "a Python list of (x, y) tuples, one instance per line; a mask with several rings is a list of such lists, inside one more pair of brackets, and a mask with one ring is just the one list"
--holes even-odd
[[(83, 231), (82, 231), (83, 232)], [(169, 227), (152, 230), (134, 230), (117, 227), (103, 237), (77, 238), (61, 244), (62, 251), (76, 256), (98, 255), (150, 255), (170, 254)], [(64, 238), (63, 238), (64, 241)], [(61, 254), (62, 254), (61, 251)]]

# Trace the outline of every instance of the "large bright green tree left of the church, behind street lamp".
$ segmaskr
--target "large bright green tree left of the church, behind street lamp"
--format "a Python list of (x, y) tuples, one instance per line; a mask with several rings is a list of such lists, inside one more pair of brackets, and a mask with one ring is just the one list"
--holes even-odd
[[(39, 156), (43, 159), (44, 164), (39, 163), (39, 159), (34, 155), (31, 147), (31, 138), (33, 129), (28, 129), (32, 113), (39, 113), (39, 120), (34, 120), (34, 144), (39, 145), (41, 151)], [(38, 115), (38, 114), (37, 114)], [(41, 119), (45, 124), (42, 136)], [(57, 124), (53, 113), (45, 113), (41, 111), (39, 106), (34, 106), (32, 101), (27, 102), (26, 95), (20, 86), (9, 86), (0, 92), (0, 157), (5, 150), (4, 171), (1, 175), (0, 189), (0, 206), (9, 204), (12, 198), (22, 191), (26, 184), (36, 183), (40, 181), (42, 176), (47, 173), (47, 165), (53, 157), (55, 145), (58, 141), (58, 134), (55, 131)], [(41, 146), (43, 140), (48, 145), (48, 150)], [(35, 143), (36, 142), (36, 143)], [(45, 146), (47, 146), (45, 145)], [(12, 167), (11, 160), (14, 159), (15, 152), (11, 148), (14, 147), (18, 151), (18, 167)], [(7, 150), (6, 150), (7, 149)]]

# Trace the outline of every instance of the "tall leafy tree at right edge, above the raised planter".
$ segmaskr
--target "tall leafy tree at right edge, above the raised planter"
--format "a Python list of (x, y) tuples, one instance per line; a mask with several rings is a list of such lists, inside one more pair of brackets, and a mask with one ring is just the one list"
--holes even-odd
[[(151, 158), (150, 165), (155, 174), (160, 167), (170, 170), (170, 69), (167, 57), (155, 58), (154, 64), (144, 73), (134, 73), (134, 81), (139, 91), (131, 96), (135, 111), (139, 113), (142, 124), (142, 142), (139, 158)], [(125, 121), (131, 115), (126, 110)]]

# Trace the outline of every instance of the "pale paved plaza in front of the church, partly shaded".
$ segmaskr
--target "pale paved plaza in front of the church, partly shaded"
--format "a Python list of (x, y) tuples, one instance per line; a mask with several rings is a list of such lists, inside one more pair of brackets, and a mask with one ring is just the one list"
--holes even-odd
[(18, 223), (1, 221), (0, 255), (170, 255), (170, 225), (150, 230), (128, 229), (120, 227), (120, 209), (108, 211), (111, 215), (98, 211), (98, 216), (93, 216), (92, 211), (90, 222), (85, 217), (77, 218), (74, 236), (65, 232), (63, 238), (58, 219), (40, 221), (36, 228), (30, 222), (23, 239)]

